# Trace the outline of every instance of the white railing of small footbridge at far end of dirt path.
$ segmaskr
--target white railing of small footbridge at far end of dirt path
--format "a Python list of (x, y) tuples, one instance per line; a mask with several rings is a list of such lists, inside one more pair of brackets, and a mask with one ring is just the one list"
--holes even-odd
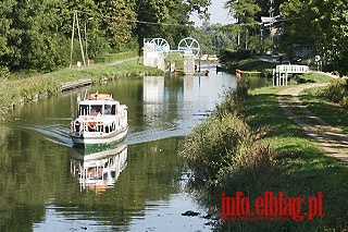
[(273, 85), (281, 86), (287, 85), (288, 74), (307, 73), (309, 72), (308, 65), (298, 64), (281, 64), (273, 69)]

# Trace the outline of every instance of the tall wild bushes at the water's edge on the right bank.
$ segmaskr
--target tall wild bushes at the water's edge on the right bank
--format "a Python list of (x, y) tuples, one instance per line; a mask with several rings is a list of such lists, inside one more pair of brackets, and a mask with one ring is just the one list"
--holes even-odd
[(186, 137), (179, 155), (194, 171), (195, 182), (208, 187), (222, 185), (227, 173), (249, 170), (256, 174), (270, 167), (272, 156), (260, 141), (260, 132), (253, 132), (238, 115), (247, 98), (244, 85), (231, 91), (215, 112)]

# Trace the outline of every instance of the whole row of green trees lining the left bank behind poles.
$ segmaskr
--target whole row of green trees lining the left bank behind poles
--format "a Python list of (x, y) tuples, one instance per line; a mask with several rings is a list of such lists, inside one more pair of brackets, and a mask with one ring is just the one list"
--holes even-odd
[[(189, 13), (207, 15), (210, 3), (210, 0), (186, 0), (184, 4), (182, 0), (2, 0), (0, 68), (51, 71), (66, 66), (76, 11), (80, 37), (75, 30), (73, 62), (80, 60), (80, 42), (90, 59), (134, 48), (137, 39), (141, 46), (147, 37), (162, 37), (175, 45), (190, 35)], [(74, 26), (76, 29), (77, 25)]]

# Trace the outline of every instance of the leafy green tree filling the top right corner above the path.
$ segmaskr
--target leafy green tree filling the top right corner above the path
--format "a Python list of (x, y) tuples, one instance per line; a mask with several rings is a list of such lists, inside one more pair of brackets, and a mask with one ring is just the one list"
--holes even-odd
[(348, 72), (346, 1), (294, 0), (284, 2), (281, 9), (287, 19), (284, 25), (285, 45), (315, 47), (328, 71)]

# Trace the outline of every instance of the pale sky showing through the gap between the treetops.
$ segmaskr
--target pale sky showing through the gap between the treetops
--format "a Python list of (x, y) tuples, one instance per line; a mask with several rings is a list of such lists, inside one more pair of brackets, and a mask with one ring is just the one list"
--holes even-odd
[[(228, 10), (224, 9), (225, 2), (227, 0), (212, 0), (212, 4), (209, 7), (210, 13), (210, 24), (231, 24), (232, 17), (228, 15)], [(197, 15), (191, 15), (190, 17), (197, 26), (201, 26), (202, 22)]]

